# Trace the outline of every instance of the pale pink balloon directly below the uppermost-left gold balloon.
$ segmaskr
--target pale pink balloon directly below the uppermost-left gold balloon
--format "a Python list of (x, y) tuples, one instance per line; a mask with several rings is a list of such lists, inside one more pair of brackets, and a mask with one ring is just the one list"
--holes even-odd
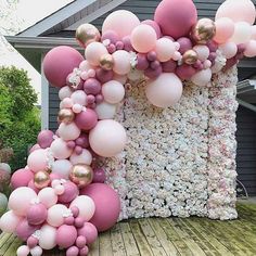
[(86, 60), (93, 66), (100, 64), (100, 59), (102, 55), (107, 54), (107, 50), (101, 42), (91, 42), (86, 48)]

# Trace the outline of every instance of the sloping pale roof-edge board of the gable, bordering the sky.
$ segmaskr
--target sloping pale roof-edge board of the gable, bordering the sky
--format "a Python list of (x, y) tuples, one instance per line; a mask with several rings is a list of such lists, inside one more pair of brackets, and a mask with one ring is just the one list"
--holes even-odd
[(20, 33), (18, 36), (37, 37), (97, 1), (98, 0), (76, 0)]

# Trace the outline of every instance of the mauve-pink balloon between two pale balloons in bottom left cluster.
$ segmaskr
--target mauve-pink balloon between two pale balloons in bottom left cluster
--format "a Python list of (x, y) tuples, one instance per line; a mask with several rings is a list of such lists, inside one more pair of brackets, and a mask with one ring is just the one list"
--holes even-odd
[(29, 225), (41, 225), (47, 219), (47, 207), (43, 204), (33, 204), (26, 217)]

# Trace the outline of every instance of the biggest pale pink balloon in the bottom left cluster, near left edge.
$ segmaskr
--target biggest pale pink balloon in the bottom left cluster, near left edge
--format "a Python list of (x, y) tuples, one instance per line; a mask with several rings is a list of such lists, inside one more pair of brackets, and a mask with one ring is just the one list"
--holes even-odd
[(36, 197), (36, 192), (30, 188), (17, 188), (11, 193), (8, 207), (16, 215), (25, 216), (31, 200), (35, 200)]

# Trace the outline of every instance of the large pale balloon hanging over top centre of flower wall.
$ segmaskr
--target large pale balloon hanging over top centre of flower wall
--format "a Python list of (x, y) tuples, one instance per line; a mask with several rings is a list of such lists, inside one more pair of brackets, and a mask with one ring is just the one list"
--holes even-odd
[(182, 91), (181, 80), (172, 73), (163, 73), (145, 88), (148, 100), (158, 107), (174, 106), (180, 100)]

